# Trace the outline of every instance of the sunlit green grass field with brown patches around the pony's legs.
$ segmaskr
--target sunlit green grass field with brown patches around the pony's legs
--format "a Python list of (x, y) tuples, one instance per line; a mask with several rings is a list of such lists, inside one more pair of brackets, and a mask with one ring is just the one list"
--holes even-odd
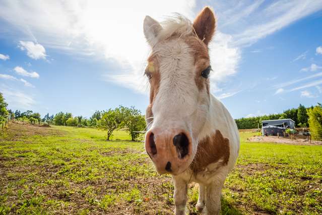
[[(322, 146), (245, 142), (222, 214), (321, 214)], [(11, 124), (0, 134), (0, 214), (171, 214), (171, 177), (124, 131)], [(117, 140), (116, 140), (117, 139)], [(198, 188), (189, 187), (190, 214)]]

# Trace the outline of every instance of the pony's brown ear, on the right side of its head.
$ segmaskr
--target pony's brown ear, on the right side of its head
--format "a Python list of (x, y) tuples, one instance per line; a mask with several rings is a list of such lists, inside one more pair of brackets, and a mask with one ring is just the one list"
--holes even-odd
[(203, 40), (205, 44), (208, 45), (216, 28), (214, 12), (209, 7), (205, 7), (196, 17), (193, 25), (199, 39)]

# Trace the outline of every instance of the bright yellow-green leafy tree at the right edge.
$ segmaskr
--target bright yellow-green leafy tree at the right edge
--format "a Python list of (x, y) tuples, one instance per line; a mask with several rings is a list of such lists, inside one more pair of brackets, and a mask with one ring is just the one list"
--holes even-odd
[(322, 107), (320, 105), (307, 110), (308, 124), (313, 140), (322, 140)]

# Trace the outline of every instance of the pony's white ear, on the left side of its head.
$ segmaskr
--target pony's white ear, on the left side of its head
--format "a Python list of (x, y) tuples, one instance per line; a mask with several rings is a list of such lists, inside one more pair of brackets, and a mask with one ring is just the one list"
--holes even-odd
[(156, 37), (162, 30), (162, 27), (158, 21), (146, 16), (143, 23), (144, 35), (147, 38), (148, 43), (153, 46), (156, 43)]

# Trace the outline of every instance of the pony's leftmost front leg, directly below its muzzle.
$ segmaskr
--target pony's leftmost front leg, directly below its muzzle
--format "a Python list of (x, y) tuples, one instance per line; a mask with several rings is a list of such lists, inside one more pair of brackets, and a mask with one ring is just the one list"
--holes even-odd
[(178, 177), (172, 177), (174, 181), (174, 213), (176, 215), (183, 215), (186, 212), (187, 201), (187, 182)]

